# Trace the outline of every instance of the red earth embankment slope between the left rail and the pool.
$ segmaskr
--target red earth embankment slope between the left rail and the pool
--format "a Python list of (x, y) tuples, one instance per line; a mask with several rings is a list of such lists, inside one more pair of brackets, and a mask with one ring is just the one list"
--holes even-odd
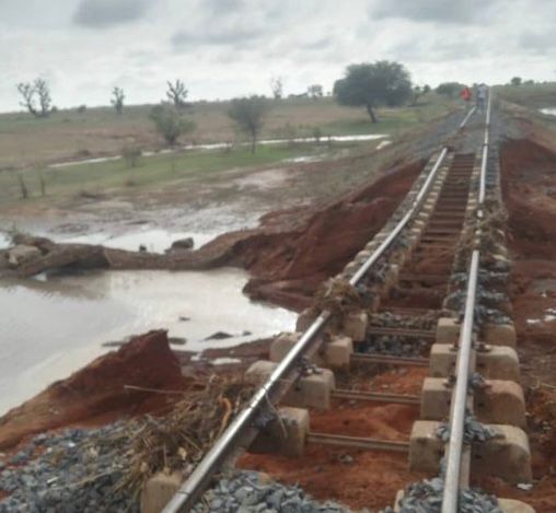
[(253, 275), (246, 292), (297, 310), (308, 306), (317, 287), (338, 273), (387, 221), (422, 165), (398, 166), (316, 210), (264, 217), (258, 234), (233, 250), (232, 263)]

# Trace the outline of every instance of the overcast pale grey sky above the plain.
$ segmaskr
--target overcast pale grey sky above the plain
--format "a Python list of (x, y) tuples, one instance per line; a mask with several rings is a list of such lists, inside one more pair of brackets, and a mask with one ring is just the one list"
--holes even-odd
[(555, 0), (0, 0), (0, 110), (46, 78), (59, 107), (329, 91), (350, 62), (403, 62), (417, 83), (555, 80)]

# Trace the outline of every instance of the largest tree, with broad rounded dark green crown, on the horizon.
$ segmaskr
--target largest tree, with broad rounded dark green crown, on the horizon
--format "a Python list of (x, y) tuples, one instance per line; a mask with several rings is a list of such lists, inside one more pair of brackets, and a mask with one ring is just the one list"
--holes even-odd
[(351, 65), (345, 77), (334, 83), (334, 95), (340, 105), (367, 107), (372, 123), (377, 123), (374, 109), (380, 105), (401, 105), (408, 100), (412, 81), (398, 62), (381, 60)]

